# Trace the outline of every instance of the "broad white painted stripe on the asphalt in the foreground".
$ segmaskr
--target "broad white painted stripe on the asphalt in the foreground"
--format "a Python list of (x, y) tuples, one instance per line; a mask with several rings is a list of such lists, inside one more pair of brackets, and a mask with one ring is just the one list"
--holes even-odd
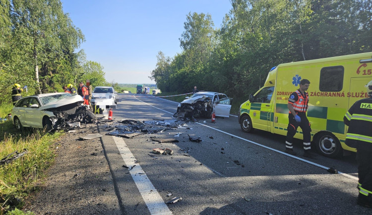
[(125, 165), (129, 167), (129, 173), (132, 176), (139, 193), (142, 196), (148, 210), (152, 215), (172, 215), (167, 205), (164, 203), (162, 197), (148, 179), (146, 173), (142, 170), (141, 166), (135, 162), (133, 154), (126, 146), (122, 137), (113, 137), (121, 154)]

